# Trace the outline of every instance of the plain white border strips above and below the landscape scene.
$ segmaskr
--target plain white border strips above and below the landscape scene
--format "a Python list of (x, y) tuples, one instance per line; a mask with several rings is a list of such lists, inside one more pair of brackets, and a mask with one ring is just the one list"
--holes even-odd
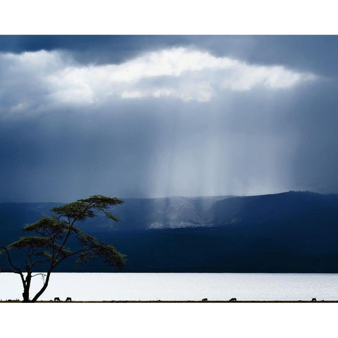
[[(0, 34), (337, 34), (334, 1), (3, 1)], [(336, 304), (0, 304), (1, 337), (331, 337)]]

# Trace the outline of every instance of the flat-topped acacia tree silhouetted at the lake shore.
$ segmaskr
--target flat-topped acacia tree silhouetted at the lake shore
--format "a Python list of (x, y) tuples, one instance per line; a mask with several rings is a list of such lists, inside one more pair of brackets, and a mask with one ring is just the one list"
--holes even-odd
[[(23, 228), (25, 232), (34, 235), (21, 237), (17, 242), (8, 246), (0, 246), (1, 253), (6, 253), (10, 268), (0, 272), (15, 273), (20, 275), (23, 283), (23, 302), (35, 302), (39, 299), (49, 284), (51, 272), (65, 259), (76, 257), (77, 262), (89, 258), (102, 258), (108, 265), (121, 268), (125, 263), (125, 255), (118, 252), (111, 244), (102, 244), (101, 240), (86, 234), (75, 223), (88, 218), (94, 218), (98, 213), (104, 213), (107, 218), (118, 221), (107, 210), (110, 206), (122, 204), (117, 198), (95, 195), (89, 199), (79, 199), (70, 204), (52, 208), (51, 217), (42, 217), (36, 223)], [(73, 240), (76, 239), (76, 242)], [(74, 246), (70, 249), (68, 245)], [(18, 249), (23, 252), (23, 261), (18, 264), (11, 257), (11, 250)], [(32, 277), (39, 266), (47, 266), (44, 284), (35, 296), (30, 298), (30, 286)]]

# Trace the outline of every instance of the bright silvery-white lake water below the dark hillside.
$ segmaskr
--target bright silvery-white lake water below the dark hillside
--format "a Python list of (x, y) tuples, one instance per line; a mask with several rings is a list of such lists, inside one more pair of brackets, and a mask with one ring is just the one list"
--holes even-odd
[[(34, 277), (32, 293), (42, 287)], [(0, 299), (21, 299), (20, 277), (0, 274)], [(54, 273), (41, 300), (338, 300), (338, 274)]]

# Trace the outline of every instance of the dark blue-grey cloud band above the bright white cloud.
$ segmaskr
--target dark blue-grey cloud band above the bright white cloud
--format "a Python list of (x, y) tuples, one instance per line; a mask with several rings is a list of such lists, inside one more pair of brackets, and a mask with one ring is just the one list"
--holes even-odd
[(216, 56), (250, 63), (282, 64), (323, 75), (337, 75), (336, 36), (1, 36), (0, 51), (64, 50), (83, 63), (120, 63), (143, 51), (192, 46)]

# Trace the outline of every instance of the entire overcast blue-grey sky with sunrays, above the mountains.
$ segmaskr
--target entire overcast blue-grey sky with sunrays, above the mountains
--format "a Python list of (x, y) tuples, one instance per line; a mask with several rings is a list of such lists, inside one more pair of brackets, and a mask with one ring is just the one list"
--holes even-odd
[(0, 37), (0, 201), (338, 192), (337, 60), (337, 37)]

